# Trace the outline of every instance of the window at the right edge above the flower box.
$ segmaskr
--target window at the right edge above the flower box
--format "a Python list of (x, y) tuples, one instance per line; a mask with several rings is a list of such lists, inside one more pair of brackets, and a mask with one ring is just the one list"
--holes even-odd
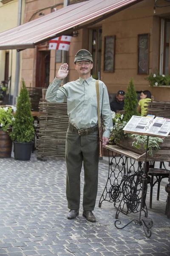
[(170, 74), (170, 19), (161, 20), (160, 69), (162, 75)]

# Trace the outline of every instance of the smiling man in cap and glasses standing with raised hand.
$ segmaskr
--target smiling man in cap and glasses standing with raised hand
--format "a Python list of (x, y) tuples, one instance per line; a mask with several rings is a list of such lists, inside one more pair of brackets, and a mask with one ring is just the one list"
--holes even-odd
[[(67, 218), (79, 215), (80, 173), (84, 167), (83, 213), (91, 222), (96, 218), (93, 210), (96, 203), (99, 166), (99, 131), (96, 100), (96, 80), (90, 75), (93, 58), (90, 52), (81, 49), (74, 59), (74, 67), (79, 79), (60, 86), (68, 75), (68, 64), (59, 68), (57, 77), (49, 85), (45, 99), (49, 102), (67, 102), (69, 127), (66, 134), (65, 160), (67, 167), (66, 196), (68, 201)], [(112, 131), (111, 109), (105, 84), (99, 81), (100, 113), (105, 126), (102, 145), (108, 143)]]

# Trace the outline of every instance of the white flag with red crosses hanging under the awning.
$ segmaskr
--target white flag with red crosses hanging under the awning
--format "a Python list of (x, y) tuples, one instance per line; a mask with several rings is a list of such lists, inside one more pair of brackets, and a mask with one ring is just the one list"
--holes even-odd
[(62, 35), (58, 38), (51, 39), (49, 41), (49, 50), (64, 50), (68, 51), (70, 47), (71, 36)]

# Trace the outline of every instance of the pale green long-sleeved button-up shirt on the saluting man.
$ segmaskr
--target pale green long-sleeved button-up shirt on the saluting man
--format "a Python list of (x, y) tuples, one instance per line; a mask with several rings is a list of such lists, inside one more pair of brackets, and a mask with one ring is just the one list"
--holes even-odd
[[(49, 102), (67, 102), (69, 121), (77, 129), (87, 129), (98, 123), (96, 80), (90, 76), (84, 80), (68, 82), (59, 87), (62, 80), (54, 79), (49, 85), (45, 99)], [(108, 90), (102, 81), (99, 81), (100, 114), (102, 114), (105, 132), (103, 137), (110, 137), (113, 129), (111, 108), (109, 105)]]

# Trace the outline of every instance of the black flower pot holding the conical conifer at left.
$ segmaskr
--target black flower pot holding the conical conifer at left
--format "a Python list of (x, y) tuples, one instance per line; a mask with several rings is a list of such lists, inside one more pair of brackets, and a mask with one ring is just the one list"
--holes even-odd
[(20, 143), (14, 141), (14, 158), (16, 160), (28, 161), (31, 158), (32, 142)]

